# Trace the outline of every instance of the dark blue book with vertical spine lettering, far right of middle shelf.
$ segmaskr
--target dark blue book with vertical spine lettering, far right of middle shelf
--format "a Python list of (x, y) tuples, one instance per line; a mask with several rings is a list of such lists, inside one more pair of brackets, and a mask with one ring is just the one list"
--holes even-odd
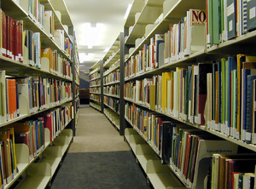
[(246, 139), (247, 143), (252, 141), (252, 120), (253, 120), (253, 80), (256, 79), (256, 75), (247, 76), (247, 103), (246, 103)]

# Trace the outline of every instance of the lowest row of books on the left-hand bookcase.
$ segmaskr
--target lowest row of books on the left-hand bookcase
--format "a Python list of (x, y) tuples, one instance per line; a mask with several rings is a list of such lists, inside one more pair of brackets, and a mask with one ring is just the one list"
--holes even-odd
[[(11, 123), (0, 129), (0, 185), (3, 188), (19, 172), (15, 145), (25, 144), (29, 149), (30, 160), (44, 151), (45, 129), (49, 129), (49, 139), (54, 140), (71, 121), (71, 103), (44, 112), (37, 117)], [(49, 142), (49, 141), (48, 141)]]

